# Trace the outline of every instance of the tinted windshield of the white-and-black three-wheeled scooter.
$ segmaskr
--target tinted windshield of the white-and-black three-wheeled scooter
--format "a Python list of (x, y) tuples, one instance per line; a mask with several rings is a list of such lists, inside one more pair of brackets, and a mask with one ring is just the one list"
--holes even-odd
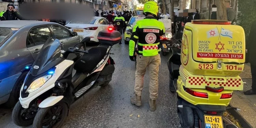
[(40, 50), (37, 59), (31, 68), (31, 75), (42, 74), (45, 71), (53, 68), (53, 63), (61, 57), (61, 43), (58, 39), (49, 38)]

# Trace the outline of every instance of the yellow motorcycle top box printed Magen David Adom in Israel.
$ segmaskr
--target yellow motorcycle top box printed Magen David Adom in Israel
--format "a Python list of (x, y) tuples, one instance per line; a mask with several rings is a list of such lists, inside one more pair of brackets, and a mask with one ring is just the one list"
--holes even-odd
[(185, 87), (243, 90), (239, 77), (245, 62), (243, 28), (223, 20), (186, 23), (181, 62), (180, 75), (186, 81)]

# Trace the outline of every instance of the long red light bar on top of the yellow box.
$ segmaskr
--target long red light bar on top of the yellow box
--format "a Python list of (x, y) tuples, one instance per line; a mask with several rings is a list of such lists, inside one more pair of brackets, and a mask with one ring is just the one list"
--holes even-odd
[(230, 25), (231, 22), (225, 20), (192, 20), (192, 24), (201, 25)]

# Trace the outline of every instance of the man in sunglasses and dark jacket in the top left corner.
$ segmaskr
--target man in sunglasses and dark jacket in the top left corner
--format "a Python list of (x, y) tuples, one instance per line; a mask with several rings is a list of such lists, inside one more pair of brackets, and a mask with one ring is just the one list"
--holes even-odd
[(12, 3), (7, 5), (7, 10), (0, 13), (0, 20), (22, 20), (22, 16), (15, 10)]

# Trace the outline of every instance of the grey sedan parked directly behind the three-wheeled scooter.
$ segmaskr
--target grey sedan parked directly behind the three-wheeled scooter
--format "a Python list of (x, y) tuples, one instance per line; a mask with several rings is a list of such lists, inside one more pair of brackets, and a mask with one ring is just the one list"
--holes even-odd
[[(64, 50), (83, 40), (81, 35), (52, 22), (8, 20), (0, 24), (0, 104), (13, 107), (28, 69), (49, 37), (64, 43)], [(85, 49), (85, 44), (76, 45)], [(69, 58), (80, 57), (72, 54)]]

